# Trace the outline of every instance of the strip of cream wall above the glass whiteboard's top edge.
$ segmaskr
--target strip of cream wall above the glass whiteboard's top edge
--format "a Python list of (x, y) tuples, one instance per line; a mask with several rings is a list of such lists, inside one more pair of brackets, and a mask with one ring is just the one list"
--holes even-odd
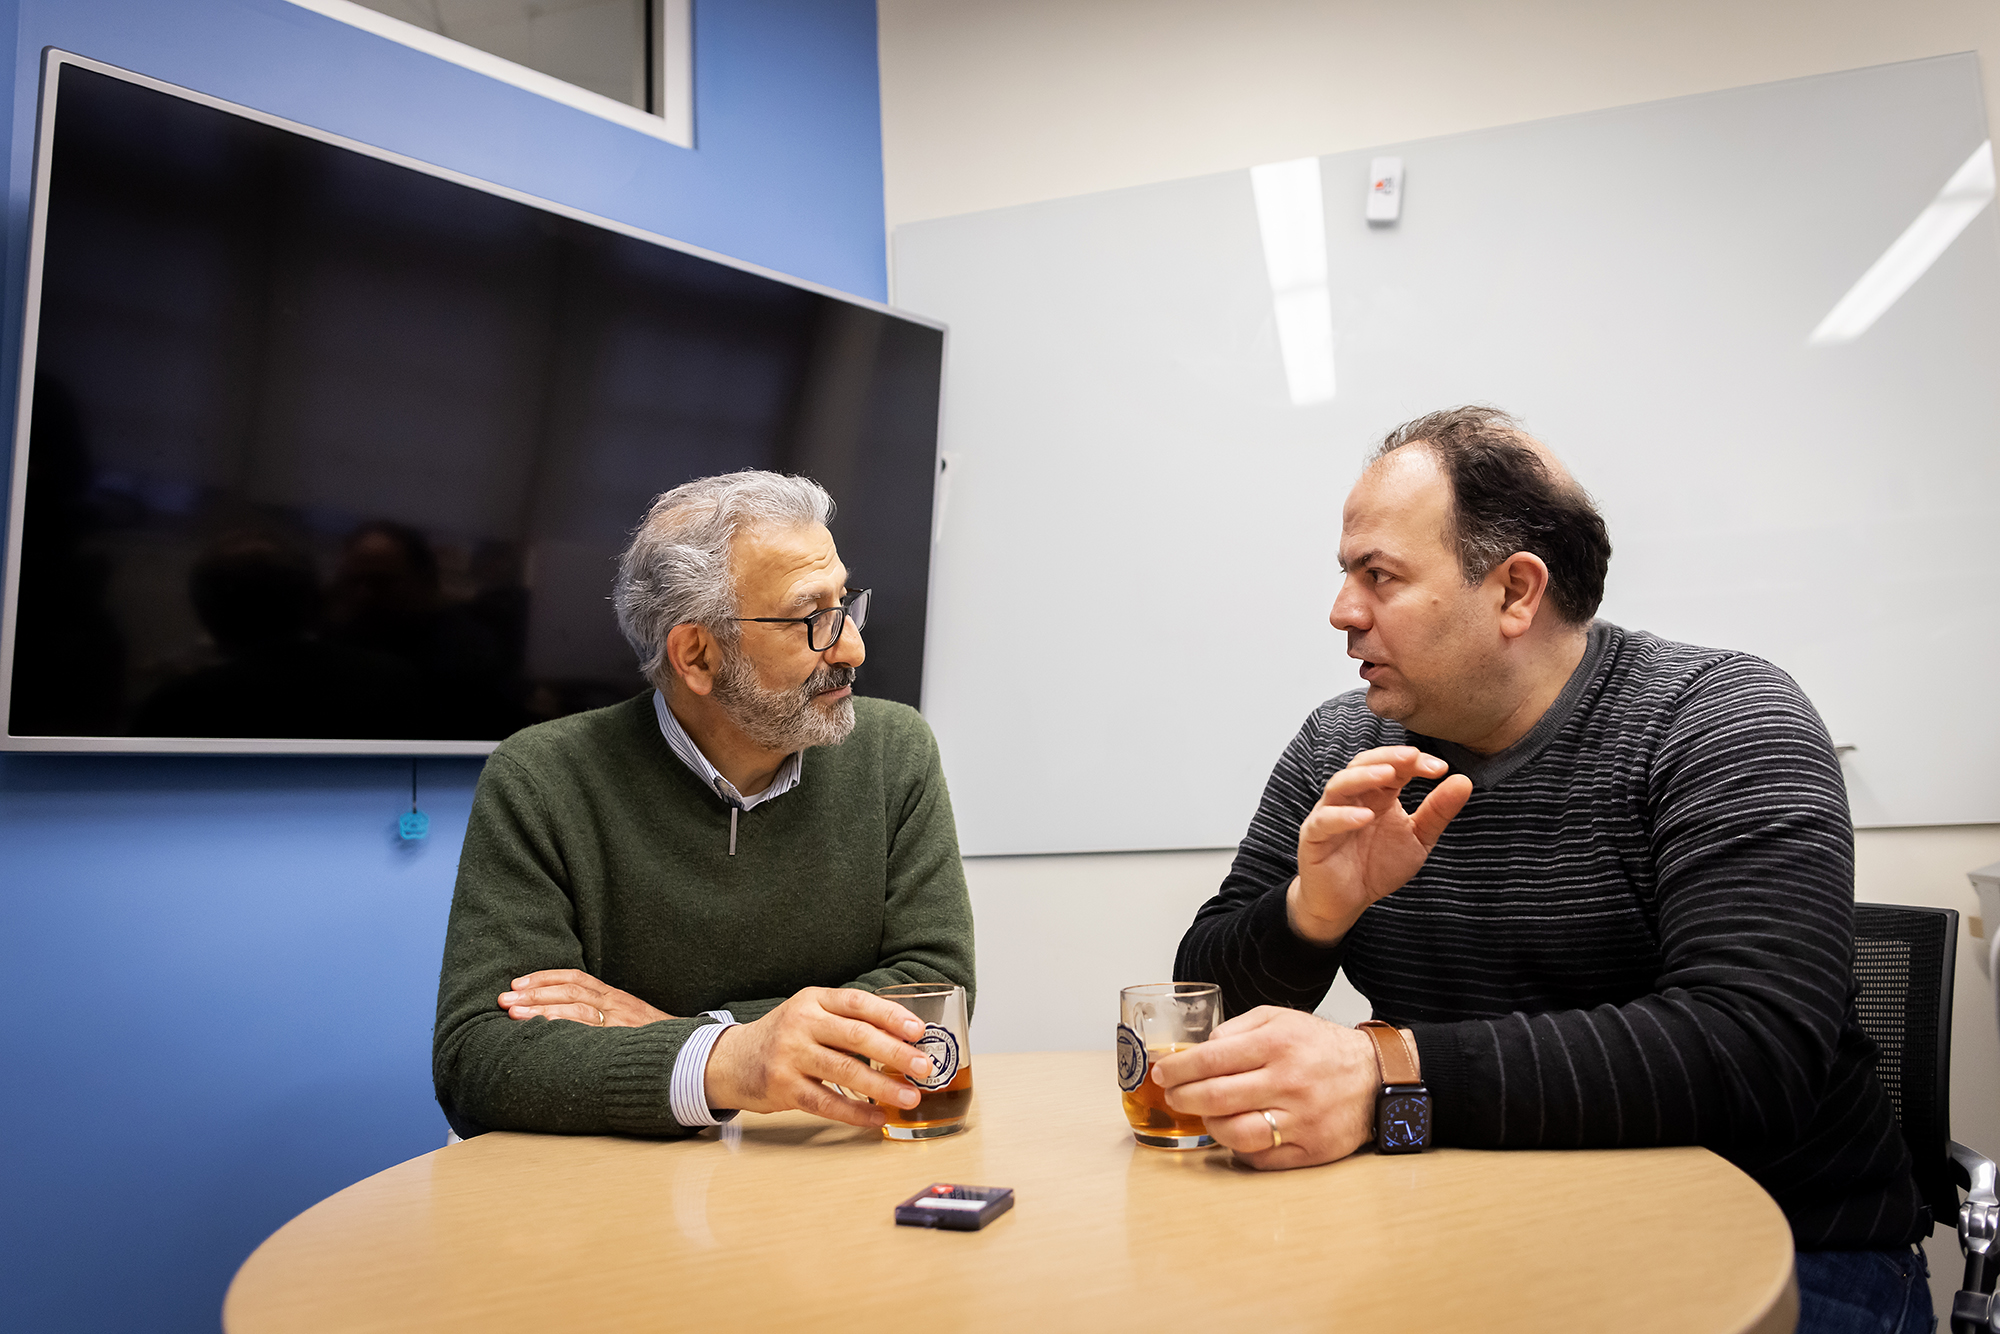
[(1992, 0), (878, 0), (888, 226), (1960, 50)]

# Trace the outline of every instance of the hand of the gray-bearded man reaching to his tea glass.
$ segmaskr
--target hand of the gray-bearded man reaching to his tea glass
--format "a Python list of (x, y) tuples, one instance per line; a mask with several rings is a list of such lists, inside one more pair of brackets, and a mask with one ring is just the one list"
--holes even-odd
[[(856, 1094), (914, 1108), (920, 1094), (906, 1074), (930, 1074), (930, 1056), (910, 1046), (924, 1024), (870, 992), (808, 986), (754, 1024), (730, 1028), (708, 1052), (712, 1108), (744, 1112), (800, 1110), (850, 1126), (878, 1128), (878, 1106), (842, 1098), (820, 1080)], [(882, 1070), (868, 1062), (880, 1060)]]

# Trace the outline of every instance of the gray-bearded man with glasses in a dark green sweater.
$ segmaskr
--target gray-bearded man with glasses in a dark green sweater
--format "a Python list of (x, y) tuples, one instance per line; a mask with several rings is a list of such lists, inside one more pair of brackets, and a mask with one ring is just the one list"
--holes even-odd
[(872, 992), (970, 996), (972, 908), (930, 728), (854, 698), (868, 590), (830, 516), (772, 472), (654, 500), (614, 596), (654, 688), (494, 750), (432, 1042), (458, 1134), (916, 1104), (924, 1026)]

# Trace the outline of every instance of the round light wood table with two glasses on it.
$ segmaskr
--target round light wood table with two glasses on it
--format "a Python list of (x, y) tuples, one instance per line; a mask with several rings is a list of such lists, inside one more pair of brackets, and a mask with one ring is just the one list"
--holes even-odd
[[(1700, 1148), (1252, 1172), (1140, 1148), (1108, 1052), (980, 1056), (972, 1126), (890, 1144), (798, 1112), (652, 1142), (486, 1134), (258, 1246), (274, 1330), (1792, 1330), (1778, 1206)], [(930, 1182), (984, 1232), (898, 1228)]]

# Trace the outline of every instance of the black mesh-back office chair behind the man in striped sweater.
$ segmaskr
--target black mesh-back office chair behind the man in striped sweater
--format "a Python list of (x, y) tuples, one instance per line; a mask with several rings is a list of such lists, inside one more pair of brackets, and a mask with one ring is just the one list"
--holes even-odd
[[(1958, 1220), (1966, 1278), (1952, 1298), (1952, 1334), (2000, 1334), (1994, 1278), (2000, 1198), (1994, 1164), (1952, 1138), (1952, 972), (1958, 914), (1950, 908), (1854, 904), (1854, 980), (1862, 1028), (1882, 1048), (1876, 1076), (1910, 1144), (1916, 1184), (1940, 1222)], [(1964, 1204), (1958, 1188), (1966, 1190)]]

